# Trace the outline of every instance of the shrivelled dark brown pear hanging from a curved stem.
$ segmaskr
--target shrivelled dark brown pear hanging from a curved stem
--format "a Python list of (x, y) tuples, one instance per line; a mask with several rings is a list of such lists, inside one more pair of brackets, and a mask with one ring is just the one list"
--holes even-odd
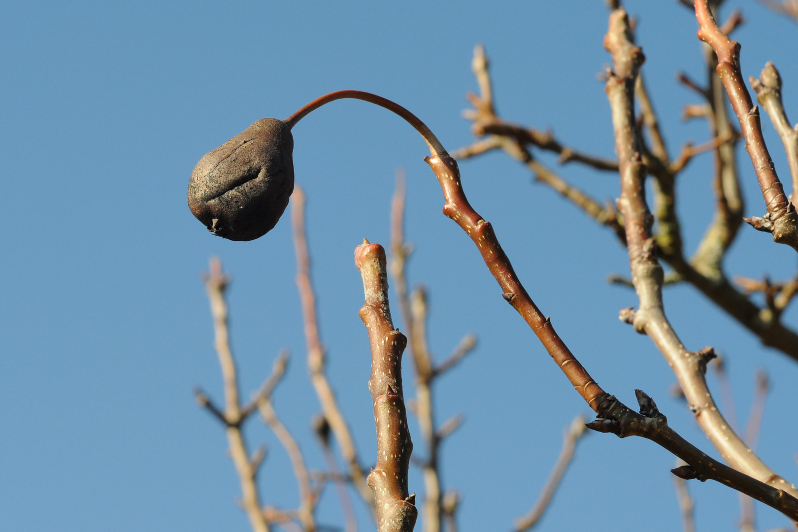
[(199, 160), (188, 183), (188, 208), (217, 236), (262, 237), (294, 191), (293, 152), (289, 125), (258, 120)]

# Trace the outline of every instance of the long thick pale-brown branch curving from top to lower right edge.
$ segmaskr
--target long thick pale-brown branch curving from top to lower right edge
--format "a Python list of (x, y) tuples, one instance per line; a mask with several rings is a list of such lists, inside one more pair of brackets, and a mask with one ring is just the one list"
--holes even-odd
[(646, 167), (642, 164), (638, 136), (634, 134), (634, 78), (644, 57), (642, 50), (630, 42), (628, 24), (624, 10), (610, 15), (604, 46), (612, 53), (614, 62), (614, 73), (607, 81), (606, 92), (612, 108), (615, 150), (621, 164), (618, 209), (626, 222), (630, 270), (640, 303), (632, 324), (636, 331), (646, 333), (666, 358), (692, 405), (698, 424), (721, 456), (746, 475), (796, 496), (798, 490), (766, 466), (729, 428), (717, 410), (705, 380), (710, 352), (687, 351), (665, 316), (662, 266), (658, 262), (651, 234), (652, 217), (646, 205)]

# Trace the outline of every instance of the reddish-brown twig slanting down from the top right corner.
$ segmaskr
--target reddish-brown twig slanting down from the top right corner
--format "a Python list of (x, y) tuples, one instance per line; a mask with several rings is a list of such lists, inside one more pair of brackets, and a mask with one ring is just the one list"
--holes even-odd
[(759, 110), (751, 101), (740, 72), (740, 44), (730, 41), (715, 24), (707, 0), (696, 0), (696, 18), (701, 28), (698, 38), (705, 41), (717, 54), (717, 73), (721, 76), (729, 102), (740, 120), (741, 135), (745, 139), (754, 171), (757, 173), (762, 196), (767, 208), (764, 218), (746, 219), (755, 229), (772, 233), (773, 240), (798, 250), (798, 215), (784, 194), (773, 161), (764, 144)]

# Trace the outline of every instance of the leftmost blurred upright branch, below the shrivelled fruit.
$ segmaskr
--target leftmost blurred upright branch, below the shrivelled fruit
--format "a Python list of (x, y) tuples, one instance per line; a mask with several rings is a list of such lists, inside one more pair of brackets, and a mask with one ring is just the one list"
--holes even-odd
[[(243, 421), (239, 407), (238, 380), (235, 373), (235, 360), (230, 349), (230, 337), (227, 328), (227, 302), (224, 293), (229, 279), (222, 273), (219, 258), (211, 258), (211, 273), (205, 278), (205, 290), (211, 301), (211, 315), (215, 332), (214, 345), (219, 355), (224, 381), (225, 420), (227, 441), (230, 444), (230, 455), (238, 472), (241, 484), (242, 506), (255, 532), (269, 532), (267, 520), (263, 517), (260, 505), (258, 486), (255, 484), (256, 467), (250, 462), (247, 444), (244, 441), (240, 424)], [(204, 394), (203, 394), (204, 395)], [(198, 394), (199, 400), (199, 394)], [(211, 402), (205, 406), (210, 409)], [(213, 410), (211, 410), (213, 412)], [(218, 411), (217, 411), (218, 412)]]

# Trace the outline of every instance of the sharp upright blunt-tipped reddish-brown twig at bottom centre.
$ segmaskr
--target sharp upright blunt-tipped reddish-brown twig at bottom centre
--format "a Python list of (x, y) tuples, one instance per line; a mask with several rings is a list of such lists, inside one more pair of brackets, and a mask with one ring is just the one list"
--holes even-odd
[(377, 530), (412, 532), (418, 515), (416, 495), (409, 495), (407, 485), (413, 443), (401, 385), (401, 355), (407, 338), (393, 328), (385, 250), (364, 239), (355, 248), (354, 258), (365, 292), (360, 317), (369, 330), (371, 345), (369, 392), (377, 422), (377, 466), (369, 473), (367, 482), (377, 506)]

